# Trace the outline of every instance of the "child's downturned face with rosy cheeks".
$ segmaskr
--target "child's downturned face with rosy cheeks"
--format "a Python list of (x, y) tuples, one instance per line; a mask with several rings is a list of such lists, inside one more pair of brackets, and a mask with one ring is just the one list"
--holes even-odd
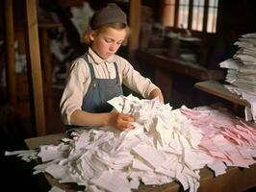
[(115, 30), (108, 27), (99, 34), (91, 33), (91, 48), (102, 59), (106, 60), (115, 54), (125, 37), (126, 29)]

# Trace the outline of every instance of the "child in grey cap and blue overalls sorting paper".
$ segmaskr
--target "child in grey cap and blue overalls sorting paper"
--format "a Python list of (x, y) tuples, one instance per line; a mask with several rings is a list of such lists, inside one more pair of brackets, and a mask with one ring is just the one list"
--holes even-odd
[(128, 33), (126, 14), (115, 3), (92, 15), (84, 36), (89, 49), (71, 63), (60, 104), (67, 128), (112, 126), (119, 131), (133, 128), (133, 116), (112, 111), (108, 104), (123, 94), (121, 84), (143, 98), (158, 97), (164, 103), (155, 84), (142, 77), (129, 61), (115, 55), (126, 43)]

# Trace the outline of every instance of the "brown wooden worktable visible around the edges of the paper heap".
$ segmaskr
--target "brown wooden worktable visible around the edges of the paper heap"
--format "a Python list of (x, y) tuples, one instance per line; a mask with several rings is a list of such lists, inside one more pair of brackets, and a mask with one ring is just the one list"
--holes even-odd
[[(58, 144), (60, 140), (67, 135), (65, 133), (51, 134), (25, 139), (25, 143), (29, 149), (38, 148), (40, 145)], [(59, 183), (48, 174), (44, 174), (51, 186), (56, 185), (66, 192), (74, 192), (78, 190), (78, 186), (73, 184)], [(198, 192), (241, 192), (256, 186), (256, 164), (250, 168), (242, 169), (238, 167), (228, 168), (227, 173), (217, 178), (214, 177), (212, 171), (208, 168), (200, 170), (200, 187)], [(176, 182), (163, 185), (144, 185), (141, 184), (137, 192), (180, 192), (183, 191)]]

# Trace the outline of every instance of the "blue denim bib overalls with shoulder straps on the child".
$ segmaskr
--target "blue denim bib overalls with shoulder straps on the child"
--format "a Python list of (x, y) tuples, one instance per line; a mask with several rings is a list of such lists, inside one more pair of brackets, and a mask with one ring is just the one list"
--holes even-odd
[[(90, 67), (90, 86), (87, 94), (83, 99), (82, 109), (88, 112), (100, 113), (110, 112), (113, 107), (108, 103), (114, 97), (123, 95), (122, 86), (120, 84), (119, 75), (117, 71), (117, 64), (115, 65), (115, 79), (97, 79), (95, 77), (92, 63), (88, 60), (88, 55), (81, 56), (87, 61)], [(66, 130), (74, 130), (80, 126), (65, 126)], [(71, 129), (71, 130), (70, 130)]]

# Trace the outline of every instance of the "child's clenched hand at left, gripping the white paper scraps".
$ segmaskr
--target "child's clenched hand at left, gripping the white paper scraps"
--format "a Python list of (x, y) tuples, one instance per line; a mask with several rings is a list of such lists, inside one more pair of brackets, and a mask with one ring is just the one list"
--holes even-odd
[(133, 128), (134, 117), (129, 114), (111, 112), (110, 125), (119, 131)]

